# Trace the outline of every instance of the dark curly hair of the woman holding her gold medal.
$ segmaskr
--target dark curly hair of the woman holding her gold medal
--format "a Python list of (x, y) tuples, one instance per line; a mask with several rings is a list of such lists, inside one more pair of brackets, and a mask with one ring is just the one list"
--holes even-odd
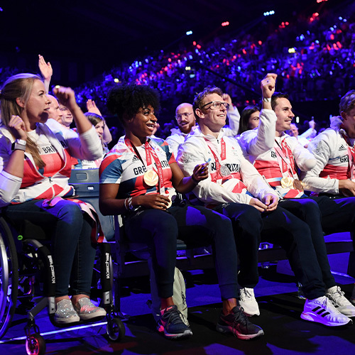
[(125, 126), (125, 121), (132, 119), (138, 111), (149, 105), (153, 107), (154, 113), (160, 110), (159, 93), (147, 85), (121, 84), (109, 91), (107, 98), (107, 109), (116, 114)]

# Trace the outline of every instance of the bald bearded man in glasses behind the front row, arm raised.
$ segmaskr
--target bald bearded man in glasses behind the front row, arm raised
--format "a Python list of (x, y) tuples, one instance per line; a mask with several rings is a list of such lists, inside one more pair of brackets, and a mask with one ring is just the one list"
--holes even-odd
[[(224, 135), (236, 136), (239, 129), (239, 111), (231, 103), (231, 97), (229, 94), (222, 94), (222, 97), (229, 105), (227, 108), (229, 126), (224, 126)], [(166, 138), (166, 141), (176, 157), (176, 155), (178, 155), (180, 144), (184, 143), (186, 136), (196, 127), (196, 119), (192, 109), (192, 104), (180, 104), (176, 108), (175, 119), (178, 123), (178, 129), (172, 129), (172, 134)]]

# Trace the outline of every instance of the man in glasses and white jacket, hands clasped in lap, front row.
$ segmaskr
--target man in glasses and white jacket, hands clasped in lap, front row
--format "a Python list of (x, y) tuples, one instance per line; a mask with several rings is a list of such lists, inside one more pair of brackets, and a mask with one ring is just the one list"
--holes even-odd
[[(348, 324), (351, 320), (325, 297), (309, 226), (278, 206), (277, 192), (244, 158), (236, 139), (224, 136), (228, 106), (217, 87), (207, 87), (197, 94), (193, 109), (199, 128), (180, 146), (177, 161), (185, 175), (192, 173), (197, 163), (210, 162), (209, 178), (193, 190), (195, 202), (231, 219), (240, 259), (240, 307), (246, 315), (260, 314), (253, 293), (258, 283), (258, 246), (261, 241), (270, 241), (286, 250), (293, 272), (303, 285), (307, 302), (302, 318), (329, 327)], [(217, 325), (217, 329), (233, 332), (235, 321), (233, 315), (221, 315), (222, 327)]]

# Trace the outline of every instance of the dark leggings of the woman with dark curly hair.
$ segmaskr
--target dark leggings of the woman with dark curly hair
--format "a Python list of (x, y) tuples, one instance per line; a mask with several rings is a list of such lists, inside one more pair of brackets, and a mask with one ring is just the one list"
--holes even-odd
[(173, 295), (176, 241), (187, 246), (212, 244), (222, 300), (236, 298), (237, 261), (230, 219), (222, 214), (186, 204), (173, 206), (167, 212), (146, 209), (124, 219), (130, 241), (147, 244), (151, 249), (158, 295)]

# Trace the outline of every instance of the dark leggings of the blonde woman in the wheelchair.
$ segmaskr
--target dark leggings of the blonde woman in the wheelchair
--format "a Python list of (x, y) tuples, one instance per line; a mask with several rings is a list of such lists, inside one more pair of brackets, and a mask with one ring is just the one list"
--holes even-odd
[(43, 200), (11, 204), (3, 209), (9, 219), (27, 219), (39, 226), (53, 226), (52, 254), (55, 270), (55, 297), (90, 295), (96, 249), (91, 243), (92, 226), (80, 207), (69, 200), (42, 207)]

